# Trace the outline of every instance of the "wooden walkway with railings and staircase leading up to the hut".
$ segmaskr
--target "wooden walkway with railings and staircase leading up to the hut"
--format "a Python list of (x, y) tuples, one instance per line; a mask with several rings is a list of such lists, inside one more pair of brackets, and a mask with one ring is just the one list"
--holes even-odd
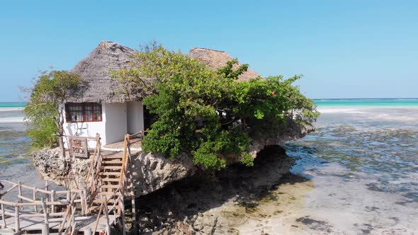
[[(118, 227), (125, 234), (125, 202), (132, 205), (135, 226), (135, 192), (132, 185), (130, 138), (125, 135), (123, 151), (102, 154), (100, 137), (96, 140), (85, 187), (77, 190), (48, 190), (0, 180), (0, 234), (111, 234)], [(77, 137), (80, 138), (80, 137)], [(6, 187), (8, 186), (8, 187)], [(16, 194), (16, 202), (2, 198)]]

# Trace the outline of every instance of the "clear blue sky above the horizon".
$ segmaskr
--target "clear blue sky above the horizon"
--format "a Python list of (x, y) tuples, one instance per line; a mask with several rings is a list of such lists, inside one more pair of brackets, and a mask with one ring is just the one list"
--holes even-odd
[(1, 1), (0, 101), (101, 40), (225, 50), (310, 98), (418, 97), (418, 1)]

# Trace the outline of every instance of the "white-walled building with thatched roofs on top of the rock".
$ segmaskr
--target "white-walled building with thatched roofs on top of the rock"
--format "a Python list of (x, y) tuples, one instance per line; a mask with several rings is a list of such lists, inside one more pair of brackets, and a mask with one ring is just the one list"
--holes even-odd
[[(63, 126), (68, 135), (96, 137), (100, 134), (101, 143), (105, 145), (123, 140), (126, 133), (147, 130), (150, 119), (141, 100), (148, 92), (139, 89), (123, 93), (120, 83), (111, 77), (111, 70), (140, 63), (135, 60), (136, 52), (115, 42), (103, 41), (71, 70), (79, 74), (83, 82), (64, 101)], [(226, 52), (203, 48), (193, 48), (188, 55), (214, 70), (232, 59)], [(239, 76), (239, 81), (257, 76), (249, 69)], [(153, 80), (142, 78), (149, 83)]]

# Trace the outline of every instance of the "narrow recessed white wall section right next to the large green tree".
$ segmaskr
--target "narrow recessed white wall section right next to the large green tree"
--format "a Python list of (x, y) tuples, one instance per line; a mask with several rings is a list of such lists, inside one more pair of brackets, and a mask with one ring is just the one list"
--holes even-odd
[(128, 133), (133, 134), (144, 130), (144, 105), (141, 101), (126, 104), (128, 116)]

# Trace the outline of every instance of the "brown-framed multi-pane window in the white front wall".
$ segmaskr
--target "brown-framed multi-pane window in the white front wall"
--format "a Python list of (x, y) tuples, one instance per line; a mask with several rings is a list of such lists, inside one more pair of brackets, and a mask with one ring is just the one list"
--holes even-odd
[(67, 122), (101, 122), (100, 103), (66, 103)]

